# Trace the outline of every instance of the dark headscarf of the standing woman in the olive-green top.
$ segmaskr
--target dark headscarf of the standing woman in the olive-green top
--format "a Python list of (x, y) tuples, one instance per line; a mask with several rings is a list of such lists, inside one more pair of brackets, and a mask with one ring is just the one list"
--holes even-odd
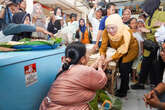
[(151, 25), (151, 19), (155, 10), (159, 9), (159, 6), (160, 6), (160, 0), (146, 0), (142, 5), (143, 11), (145, 11), (150, 16), (148, 22), (149, 26)]

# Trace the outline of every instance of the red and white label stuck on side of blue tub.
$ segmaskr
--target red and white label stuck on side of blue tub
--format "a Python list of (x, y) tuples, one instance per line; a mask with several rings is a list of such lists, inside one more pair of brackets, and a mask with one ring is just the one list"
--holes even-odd
[(26, 87), (38, 81), (36, 64), (30, 64), (24, 67)]

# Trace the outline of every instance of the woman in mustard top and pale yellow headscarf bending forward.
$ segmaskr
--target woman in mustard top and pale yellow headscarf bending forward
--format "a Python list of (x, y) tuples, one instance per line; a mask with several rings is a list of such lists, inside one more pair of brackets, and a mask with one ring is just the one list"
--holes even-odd
[[(107, 65), (114, 60), (119, 61), (121, 86), (116, 96), (125, 97), (129, 88), (129, 73), (131, 71), (132, 61), (138, 55), (138, 42), (132, 36), (129, 27), (123, 24), (122, 18), (118, 14), (110, 15), (105, 24), (106, 28), (102, 36), (99, 65)], [(117, 51), (112, 57), (106, 58), (106, 50), (109, 43), (111, 48)]]

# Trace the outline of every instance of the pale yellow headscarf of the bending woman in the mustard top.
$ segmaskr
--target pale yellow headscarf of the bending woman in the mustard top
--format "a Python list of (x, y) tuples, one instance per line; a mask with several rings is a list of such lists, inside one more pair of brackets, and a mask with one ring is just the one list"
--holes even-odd
[(123, 37), (125, 43), (121, 45), (117, 49), (117, 51), (121, 54), (125, 54), (128, 51), (128, 47), (131, 39), (131, 34), (128, 31), (129, 27), (123, 23), (122, 18), (118, 14), (112, 14), (106, 19), (105, 26), (111, 24), (116, 25), (118, 30), (116, 35), (112, 36), (111, 34), (108, 33), (108, 36), (112, 41), (120, 41), (121, 38)]

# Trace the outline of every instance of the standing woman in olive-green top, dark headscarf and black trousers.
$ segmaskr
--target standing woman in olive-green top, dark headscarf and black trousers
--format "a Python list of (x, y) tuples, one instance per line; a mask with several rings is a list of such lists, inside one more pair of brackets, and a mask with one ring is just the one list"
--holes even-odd
[[(152, 7), (151, 7), (152, 6)], [(141, 32), (146, 34), (147, 40), (155, 41), (155, 32), (165, 22), (165, 12), (159, 11), (160, 0), (146, 0), (143, 5), (143, 11), (148, 15), (145, 22), (145, 27), (140, 28)], [(160, 57), (160, 56), (159, 56)], [(139, 82), (132, 85), (132, 89), (144, 89), (144, 84), (150, 74), (151, 85), (156, 86), (162, 82), (163, 77), (163, 62), (155, 60), (157, 58), (157, 49), (149, 51), (144, 49), (143, 61), (141, 65)]]

